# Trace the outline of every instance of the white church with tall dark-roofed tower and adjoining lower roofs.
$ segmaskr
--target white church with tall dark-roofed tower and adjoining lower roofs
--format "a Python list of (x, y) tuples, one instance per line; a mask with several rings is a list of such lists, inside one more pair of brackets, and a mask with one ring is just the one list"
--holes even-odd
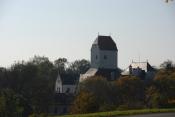
[(80, 75), (80, 81), (92, 76), (103, 76), (111, 81), (119, 74), (116, 43), (111, 36), (99, 35), (91, 47), (91, 68)]

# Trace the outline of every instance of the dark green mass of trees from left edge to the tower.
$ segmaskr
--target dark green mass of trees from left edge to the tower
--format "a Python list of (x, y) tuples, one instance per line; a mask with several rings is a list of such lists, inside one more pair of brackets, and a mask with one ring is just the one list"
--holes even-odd
[[(82, 59), (68, 62), (58, 58), (34, 56), (9, 68), (0, 68), (0, 117), (47, 115), (54, 103), (54, 86), (58, 72), (79, 78), (89, 69), (90, 62)], [(43, 115), (44, 116), (44, 115)]]

